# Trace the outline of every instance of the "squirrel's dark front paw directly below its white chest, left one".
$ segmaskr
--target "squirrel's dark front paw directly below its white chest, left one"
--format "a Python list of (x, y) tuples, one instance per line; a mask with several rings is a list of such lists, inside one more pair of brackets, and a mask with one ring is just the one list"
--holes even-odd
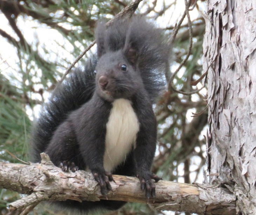
[[(107, 195), (108, 191), (112, 191), (110, 181), (114, 181), (112, 174), (106, 171), (92, 170), (94, 179), (100, 184), (102, 195)], [(115, 182), (115, 181), (114, 181)]]

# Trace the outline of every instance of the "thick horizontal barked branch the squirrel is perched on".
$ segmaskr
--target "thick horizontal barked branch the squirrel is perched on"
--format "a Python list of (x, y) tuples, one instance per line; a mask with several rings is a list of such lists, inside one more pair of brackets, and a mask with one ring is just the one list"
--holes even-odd
[[(9, 205), (10, 210), (35, 205), (40, 201), (99, 201), (106, 199), (93, 175), (85, 171), (62, 172), (54, 166), (49, 157), (42, 153), (42, 163), (11, 164), (0, 163), (0, 187), (28, 196)], [(29, 174), (28, 174), (29, 173)], [(183, 184), (159, 181), (156, 184), (156, 198), (146, 199), (137, 178), (113, 176), (113, 192), (108, 200), (149, 203), (157, 210), (186, 211), (197, 214), (235, 214), (236, 196), (227, 188), (204, 184)]]

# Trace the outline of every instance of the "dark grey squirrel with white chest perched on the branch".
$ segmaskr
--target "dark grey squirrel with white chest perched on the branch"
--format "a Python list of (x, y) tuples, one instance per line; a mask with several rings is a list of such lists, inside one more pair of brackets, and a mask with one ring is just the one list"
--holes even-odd
[[(97, 56), (56, 87), (31, 135), (32, 161), (46, 152), (63, 171), (90, 170), (101, 193), (113, 174), (137, 176), (147, 198), (160, 180), (150, 172), (156, 149), (153, 102), (165, 87), (170, 48), (161, 29), (144, 17), (99, 23)], [(68, 200), (55, 205), (77, 213), (115, 210), (123, 201)]]

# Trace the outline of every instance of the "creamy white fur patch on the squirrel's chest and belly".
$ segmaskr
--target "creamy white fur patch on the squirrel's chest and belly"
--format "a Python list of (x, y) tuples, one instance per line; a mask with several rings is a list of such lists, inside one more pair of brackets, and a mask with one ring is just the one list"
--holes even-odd
[(139, 131), (139, 121), (133, 107), (127, 99), (116, 99), (113, 102), (106, 132), (104, 169), (113, 171), (122, 163), (130, 152)]

